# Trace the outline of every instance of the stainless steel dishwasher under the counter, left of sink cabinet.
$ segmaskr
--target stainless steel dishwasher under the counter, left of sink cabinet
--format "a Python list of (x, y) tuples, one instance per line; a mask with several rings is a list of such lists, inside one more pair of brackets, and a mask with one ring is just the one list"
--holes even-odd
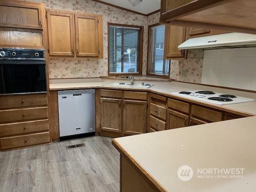
[(60, 139), (95, 134), (95, 90), (58, 91)]

